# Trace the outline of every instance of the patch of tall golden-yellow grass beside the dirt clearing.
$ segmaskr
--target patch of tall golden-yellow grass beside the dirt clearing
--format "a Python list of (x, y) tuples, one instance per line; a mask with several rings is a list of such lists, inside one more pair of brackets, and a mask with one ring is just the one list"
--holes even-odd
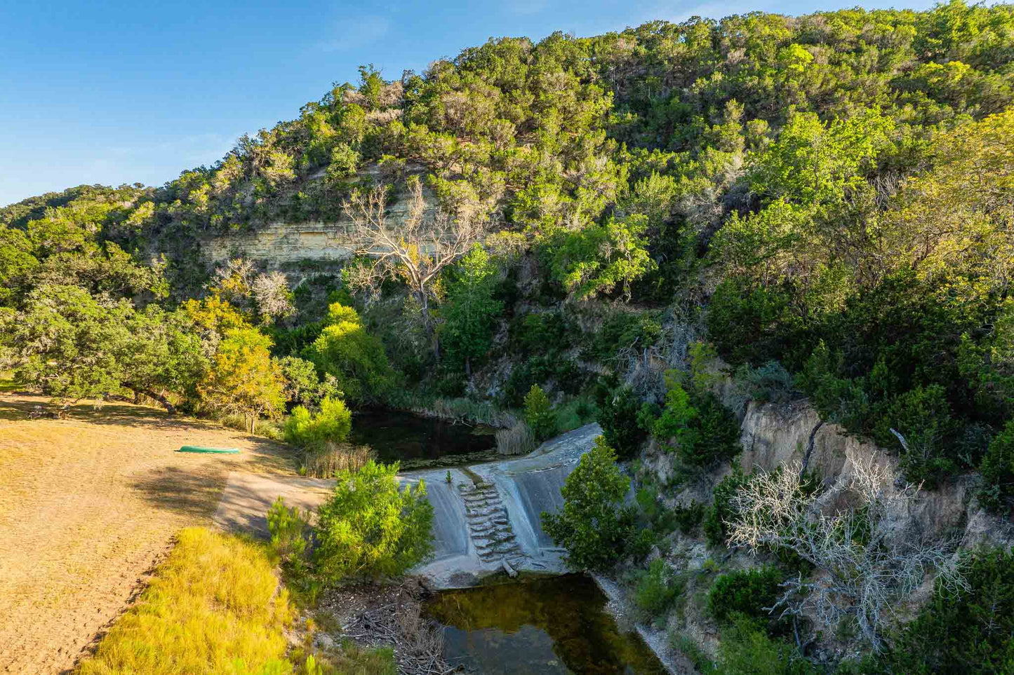
[(150, 588), (78, 675), (291, 673), (288, 593), (267, 549), (204, 528), (179, 533)]

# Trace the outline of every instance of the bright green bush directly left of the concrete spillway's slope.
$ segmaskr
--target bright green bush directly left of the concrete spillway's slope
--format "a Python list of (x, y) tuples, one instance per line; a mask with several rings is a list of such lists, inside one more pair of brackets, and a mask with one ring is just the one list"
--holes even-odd
[(433, 551), (433, 507), (426, 485), (400, 490), (399, 465), (370, 460), (341, 471), (335, 492), (317, 510), (313, 561), (322, 578), (392, 577)]

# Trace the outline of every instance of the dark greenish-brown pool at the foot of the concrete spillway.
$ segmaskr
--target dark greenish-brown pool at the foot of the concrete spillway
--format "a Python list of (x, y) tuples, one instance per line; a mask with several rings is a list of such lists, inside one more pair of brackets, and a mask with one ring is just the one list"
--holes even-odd
[(569, 575), (438, 593), (444, 657), (489, 675), (662, 675), (636, 632), (623, 632), (588, 577)]

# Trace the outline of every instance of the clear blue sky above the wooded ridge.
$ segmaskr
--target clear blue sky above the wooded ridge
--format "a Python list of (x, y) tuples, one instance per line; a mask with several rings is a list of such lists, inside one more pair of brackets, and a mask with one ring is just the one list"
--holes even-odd
[(81, 183), (164, 183), (356, 81), (359, 64), (395, 78), (490, 36), (852, 4), (0, 0), (0, 206)]

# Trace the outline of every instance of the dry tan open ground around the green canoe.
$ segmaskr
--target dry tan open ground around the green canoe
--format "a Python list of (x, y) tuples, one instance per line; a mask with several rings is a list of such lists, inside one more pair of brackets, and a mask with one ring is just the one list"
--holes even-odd
[[(28, 420), (0, 393), (0, 673), (61, 673), (142, 587), (182, 527), (210, 524), (231, 471), (293, 473), (287, 446), (130, 403)], [(238, 447), (238, 455), (174, 452)]]

